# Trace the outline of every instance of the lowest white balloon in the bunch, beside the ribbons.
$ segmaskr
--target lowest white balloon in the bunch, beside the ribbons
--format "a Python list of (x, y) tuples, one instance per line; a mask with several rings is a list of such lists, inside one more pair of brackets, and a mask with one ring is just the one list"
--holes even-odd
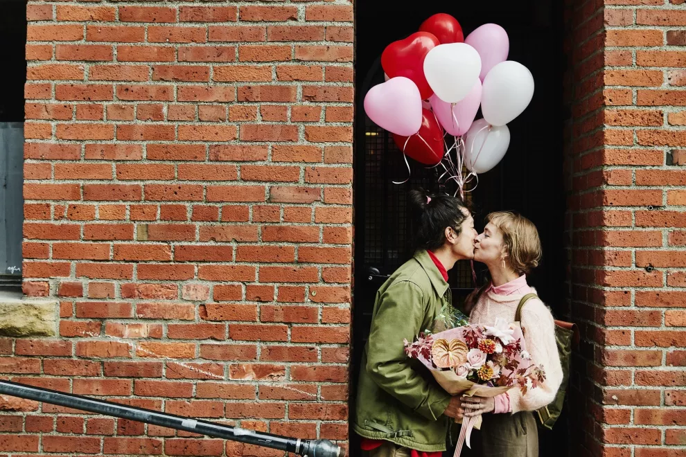
[(507, 125), (491, 126), (485, 119), (475, 120), (464, 134), (464, 165), (476, 174), (485, 173), (498, 165), (509, 145)]

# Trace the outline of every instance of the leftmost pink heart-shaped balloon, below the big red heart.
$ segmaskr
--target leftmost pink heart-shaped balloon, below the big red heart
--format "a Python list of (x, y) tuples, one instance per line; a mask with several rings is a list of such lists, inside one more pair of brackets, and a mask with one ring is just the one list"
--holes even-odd
[(402, 136), (419, 132), (421, 95), (412, 80), (391, 78), (369, 89), (364, 97), (364, 112), (379, 127)]

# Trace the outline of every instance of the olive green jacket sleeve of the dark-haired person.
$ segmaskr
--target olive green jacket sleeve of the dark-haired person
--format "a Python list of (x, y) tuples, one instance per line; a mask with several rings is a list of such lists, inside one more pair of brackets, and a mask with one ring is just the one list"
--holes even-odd
[(446, 411), (450, 394), (412, 368), (403, 346), (403, 339), (414, 341), (423, 331), (421, 289), (403, 281), (391, 285), (380, 300), (369, 332), (367, 372), (380, 388), (398, 401), (425, 418), (437, 420)]

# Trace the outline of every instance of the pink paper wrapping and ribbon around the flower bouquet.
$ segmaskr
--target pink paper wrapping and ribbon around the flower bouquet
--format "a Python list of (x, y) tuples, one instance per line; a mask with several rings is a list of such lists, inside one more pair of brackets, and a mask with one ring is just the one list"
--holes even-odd
[[(520, 341), (520, 346), (522, 347), (522, 351), (526, 350), (525, 346), (525, 341), (524, 341), (524, 334), (522, 333), (522, 329), (519, 327), (517, 324), (512, 324), (513, 325), (513, 334), (512, 337), (516, 340)], [(464, 328), (463, 327), (458, 327), (458, 328), (452, 328), (450, 330), (445, 330), (443, 332), (435, 333), (432, 334), (432, 338), (434, 341), (437, 339), (447, 339), (450, 341), (451, 339), (459, 339), (460, 341), (464, 341)], [(506, 393), (509, 391), (511, 388), (515, 388), (516, 386), (503, 386), (503, 387), (491, 387), (491, 386), (484, 386), (483, 384), (477, 384), (475, 382), (469, 381), (468, 379), (464, 377), (458, 376), (454, 371), (452, 370), (439, 370), (437, 368), (434, 368), (432, 366), (431, 362), (428, 361), (427, 359), (421, 357), (417, 357), (421, 363), (429, 368), (431, 371), (431, 374), (433, 375), (434, 379), (436, 379), (436, 382), (439, 383), (439, 385), (443, 388), (444, 391), (448, 392), (450, 395), (465, 395), (467, 397), (496, 397), (500, 395), (501, 393)], [(531, 361), (530, 360), (525, 360), (522, 359), (521, 357), (516, 356), (515, 357), (516, 361), (519, 362), (519, 366), (517, 369), (521, 368), (528, 368), (531, 366)], [(512, 370), (506, 370), (502, 369), (502, 374), (504, 375), (509, 375), (512, 373)], [(480, 429), (481, 424), (482, 424), (482, 417), (481, 415), (478, 415), (476, 417), (470, 417), (466, 418), (466, 420), (459, 421), (455, 420), (457, 423), (461, 423), (462, 427), (460, 429), (460, 435), (459, 438), (457, 439), (457, 447), (455, 448), (455, 456), (454, 457), (459, 457), (461, 451), (462, 451), (462, 446), (466, 442), (467, 447), (470, 446), (470, 437), (471, 437), (471, 432), (472, 429)]]

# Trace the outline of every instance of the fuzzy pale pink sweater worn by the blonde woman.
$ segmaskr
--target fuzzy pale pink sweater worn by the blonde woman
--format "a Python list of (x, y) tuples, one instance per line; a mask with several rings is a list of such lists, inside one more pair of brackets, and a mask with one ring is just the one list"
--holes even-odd
[[(521, 278), (517, 281), (520, 282)], [(500, 287), (508, 289), (507, 287)], [(497, 293), (502, 290), (500, 287), (491, 288), (479, 298), (469, 316), (470, 322), (493, 325), (498, 317), (513, 322), (517, 305), (522, 297), (526, 294), (536, 293), (532, 287), (522, 285), (522, 287), (515, 287), (516, 292), (500, 295)], [(511, 290), (512, 287), (509, 289)], [(509, 396), (508, 409), (512, 413), (536, 411), (536, 409), (549, 404), (554, 400), (562, 382), (562, 366), (555, 342), (555, 323), (548, 308), (538, 298), (531, 298), (522, 309), (520, 324), (525, 330), (526, 349), (529, 351), (531, 359), (534, 364), (545, 370), (545, 382), (530, 389), (527, 395), (522, 395), (518, 388), (513, 388), (504, 394)], [(504, 399), (499, 400), (498, 403), (503, 404), (502, 400)], [(504, 403), (507, 404), (507, 400)]]

